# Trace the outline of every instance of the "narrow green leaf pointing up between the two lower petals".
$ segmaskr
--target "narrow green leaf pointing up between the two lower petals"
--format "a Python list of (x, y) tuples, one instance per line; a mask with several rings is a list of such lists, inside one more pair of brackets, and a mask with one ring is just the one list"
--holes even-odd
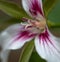
[(28, 42), (22, 50), (19, 62), (28, 62), (33, 52), (33, 49), (34, 49), (34, 42), (33, 41)]

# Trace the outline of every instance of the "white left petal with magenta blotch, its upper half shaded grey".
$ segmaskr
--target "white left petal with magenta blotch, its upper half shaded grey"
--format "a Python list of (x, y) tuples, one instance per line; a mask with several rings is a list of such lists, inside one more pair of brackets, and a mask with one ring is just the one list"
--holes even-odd
[(21, 48), (26, 41), (33, 39), (33, 37), (34, 34), (25, 31), (24, 26), (15, 24), (1, 33), (2, 47), (4, 49), (18, 49)]

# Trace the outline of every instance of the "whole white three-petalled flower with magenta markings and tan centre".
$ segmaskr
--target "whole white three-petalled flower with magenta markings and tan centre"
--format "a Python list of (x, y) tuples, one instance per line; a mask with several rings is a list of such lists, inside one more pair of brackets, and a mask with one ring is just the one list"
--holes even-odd
[(42, 0), (22, 0), (24, 10), (32, 19), (23, 17), (24, 23), (14, 24), (1, 33), (4, 49), (18, 49), (35, 38), (39, 56), (47, 62), (60, 62), (60, 39), (53, 36), (46, 25)]

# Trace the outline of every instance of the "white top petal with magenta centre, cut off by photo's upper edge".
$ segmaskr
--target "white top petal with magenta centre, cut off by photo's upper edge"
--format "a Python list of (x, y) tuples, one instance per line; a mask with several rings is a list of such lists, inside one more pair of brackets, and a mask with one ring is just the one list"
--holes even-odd
[(22, 0), (25, 11), (33, 18), (44, 16), (42, 0)]

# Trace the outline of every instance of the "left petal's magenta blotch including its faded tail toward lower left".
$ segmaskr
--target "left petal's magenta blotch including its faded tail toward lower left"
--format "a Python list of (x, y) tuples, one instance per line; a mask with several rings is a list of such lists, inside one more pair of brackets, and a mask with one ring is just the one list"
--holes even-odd
[(16, 38), (14, 38), (13, 42), (9, 45), (12, 45), (14, 42), (17, 42), (19, 39), (22, 39), (22, 41), (24, 41), (24, 40), (27, 40), (30, 38), (34, 38), (35, 36), (36, 36), (36, 34), (32, 34), (29, 31), (22, 31), (17, 35)]

